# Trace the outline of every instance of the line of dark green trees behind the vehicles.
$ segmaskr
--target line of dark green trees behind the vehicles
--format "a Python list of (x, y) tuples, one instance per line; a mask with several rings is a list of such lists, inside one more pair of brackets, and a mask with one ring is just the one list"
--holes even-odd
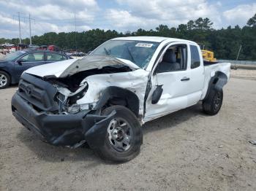
[[(256, 60), (256, 14), (248, 20), (246, 26), (228, 26), (227, 28), (214, 29), (213, 23), (206, 18), (189, 20), (187, 24), (181, 24), (177, 28), (166, 25), (159, 25), (154, 30), (137, 31), (105, 31), (99, 28), (83, 32), (49, 32), (42, 36), (33, 36), (32, 42), (37, 45), (55, 44), (62, 50), (78, 50), (89, 52), (99, 44), (120, 36), (166, 36), (179, 39), (188, 39), (197, 42), (206, 50), (215, 53), (218, 59), (236, 59), (239, 47), (241, 53), (239, 60)], [(0, 39), (0, 43), (10, 42), (18, 44), (18, 39)], [(23, 39), (23, 43), (29, 44), (29, 39)]]

